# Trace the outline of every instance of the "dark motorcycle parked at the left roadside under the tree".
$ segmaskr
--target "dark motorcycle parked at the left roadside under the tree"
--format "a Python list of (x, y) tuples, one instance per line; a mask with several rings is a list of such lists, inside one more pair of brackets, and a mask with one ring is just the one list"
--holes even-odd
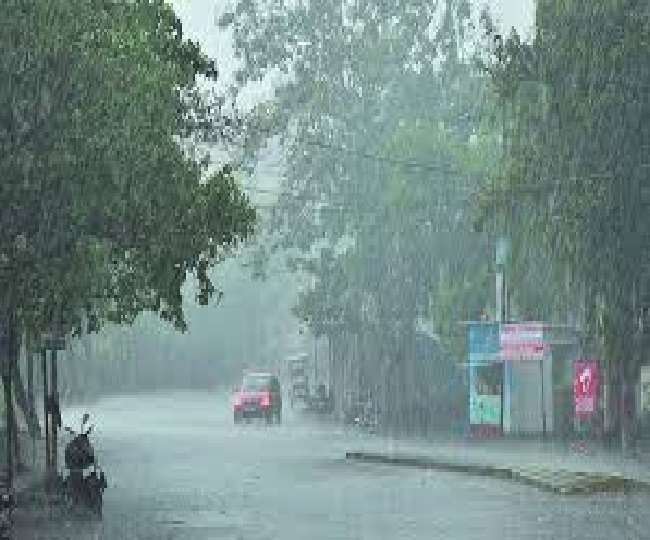
[(65, 447), (65, 466), (68, 474), (63, 478), (63, 494), (68, 504), (74, 508), (86, 508), (101, 517), (106, 476), (101, 470), (89, 435), (94, 428), (88, 427), (90, 416), (86, 413), (79, 432), (65, 427), (72, 439)]

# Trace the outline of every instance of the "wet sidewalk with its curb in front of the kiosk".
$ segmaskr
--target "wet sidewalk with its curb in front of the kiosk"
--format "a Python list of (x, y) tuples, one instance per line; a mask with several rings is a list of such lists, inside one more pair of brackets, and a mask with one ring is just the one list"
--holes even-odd
[[(597, 444), (597, 443), (596, 443)], [(463, 472), (505, 478), (569, 494), (643, 489), (650, 491), (650, 466), (596, 445), (585, 452), (566, 443), (526, 440), (360, 441), (350, 460)]]

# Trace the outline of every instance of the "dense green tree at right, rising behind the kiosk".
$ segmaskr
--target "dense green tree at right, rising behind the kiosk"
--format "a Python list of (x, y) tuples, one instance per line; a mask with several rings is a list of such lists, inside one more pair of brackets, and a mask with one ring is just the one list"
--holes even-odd
[(636, 0), (540, 1), (534, 41), (496, 40), (489, 66), (510, 110), (506, 173), (492, 200), (533, 195), (532, 204), (518, 197), (518, 210), (501, 206), (501, 215), (516, 228), (525, 206), (560, 282), (568, 277), (584, 292), (618, 401), (637, 376), (638, 307), (648, 290), (649, 20)]

